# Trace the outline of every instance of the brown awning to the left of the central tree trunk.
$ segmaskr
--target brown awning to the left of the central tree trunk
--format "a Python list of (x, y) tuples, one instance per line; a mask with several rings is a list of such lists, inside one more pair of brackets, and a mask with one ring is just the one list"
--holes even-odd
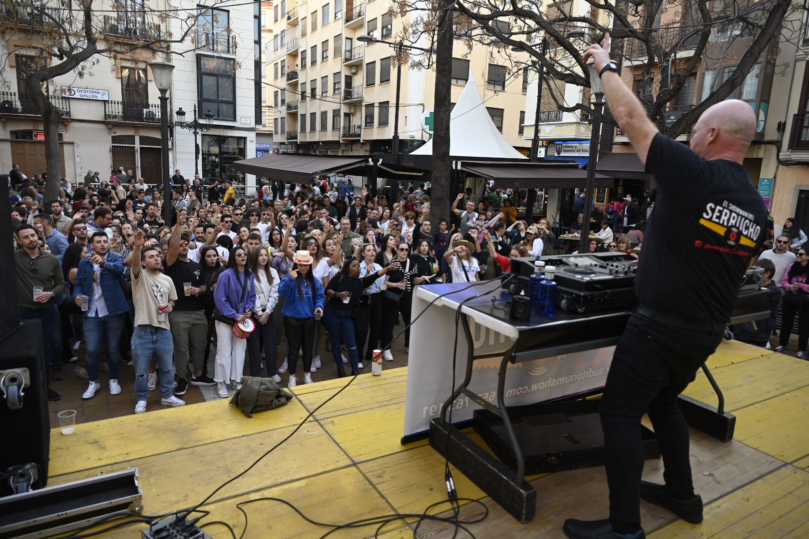
[[(247, 174), (301, 183), (324, 174), (368, 176), (373, 166), (370, 159), (366, 155), (273, 154), (263, 158), (243, 159), (234, 162), (233, 166), (237, 171)], [(388, 162), (378, 164), (376, 172), (378, 178), (414, 181), (424, 181), (426, 174), (426, 171), (412, 166)]]

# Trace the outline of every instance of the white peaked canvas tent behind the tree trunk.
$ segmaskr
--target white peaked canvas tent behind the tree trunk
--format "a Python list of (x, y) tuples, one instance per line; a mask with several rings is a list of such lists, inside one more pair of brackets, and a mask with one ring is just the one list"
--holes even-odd
[[(433, 141), (428, 141), (410, 155), (432, 155)], [(450, 114), (450, 155), (464, 158), (527, 159), (510, 145), (498, 128), (477, 91), (475, 77), (469, 74), (466, 87)]]

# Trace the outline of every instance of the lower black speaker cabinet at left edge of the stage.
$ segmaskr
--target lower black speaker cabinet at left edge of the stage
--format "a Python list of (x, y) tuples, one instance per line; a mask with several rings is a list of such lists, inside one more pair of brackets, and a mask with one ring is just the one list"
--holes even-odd
[[(28, 475), (33, 489), (48, 483), (50, 419), (39, 320), (23, 320), (0, 341), (0, 496), (11, 495), (10, 470), (33, 463)], [(26, 478), (17, 477), (25, 482)]]

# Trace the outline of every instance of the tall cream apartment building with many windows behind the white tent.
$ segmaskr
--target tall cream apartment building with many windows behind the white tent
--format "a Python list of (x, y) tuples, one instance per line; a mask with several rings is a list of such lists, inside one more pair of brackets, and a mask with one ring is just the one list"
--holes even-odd
[[(273, 144), (290, 153), (390, 154), (397, 65), (389, 45), (396, 44), (402, 24), (386, 0), (274, 2), (267, 66), (269, 107), (276, 115)], [(358, 40), (362, 35), (383, 43), (364, 44)], [(469, 74), (475, 74), (494, 123), (510, 144), (527, 154), (522, 137), (522, 74), (516, 74), (501, 52), (496, 44), (476, 43), (470, 50), (456, 40), (452, 101), (460, 97)], [(429, 137), (423, 126), (432, 121), (434, 83), (432, 69), (402, 65), (399, 135), (403, 155)]]

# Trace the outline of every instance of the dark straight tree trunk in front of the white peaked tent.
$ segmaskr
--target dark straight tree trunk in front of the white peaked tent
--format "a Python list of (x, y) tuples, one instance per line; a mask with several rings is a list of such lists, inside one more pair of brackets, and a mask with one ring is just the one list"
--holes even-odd
[[(435, 40), (435, 124), (433, 132), (433, 178), (430, 188), (430, 215), (434, 219), (450, 216), (450, 112), (452, 74), (452, 2), (444, 0), (447, 11), (438, 26)], [(436, 225), (437, 226), (437, 225)], [(438, 229), (438, 228), (436, 228)]]

